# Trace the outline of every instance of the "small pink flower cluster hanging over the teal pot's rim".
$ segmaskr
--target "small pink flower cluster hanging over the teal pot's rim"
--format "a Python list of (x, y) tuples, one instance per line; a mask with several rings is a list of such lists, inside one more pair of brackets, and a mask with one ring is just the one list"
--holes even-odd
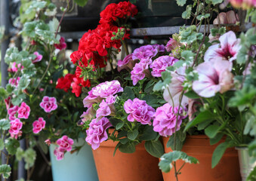
[(54, 155), (56, 156), (57, 160), (59, 161), (64, 158), (65, 152), (71, 151), (74, 141), (71, 138), (64, 135), (63, 137), (58, 139), (56, 143), (57, 143), (58, 147), (56, 147), (54, 149)]

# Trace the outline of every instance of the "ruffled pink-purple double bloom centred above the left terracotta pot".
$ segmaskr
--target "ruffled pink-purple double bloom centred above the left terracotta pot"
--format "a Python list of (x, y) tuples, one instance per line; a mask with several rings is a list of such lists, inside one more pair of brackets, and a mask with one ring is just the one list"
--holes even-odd
[(128, 113), (127, 120), (133, 122), (134, 120), (141, 124), (152, 124), (151, 119), (155, 113), (153, 107), (148, 106), (145, 100), (127, 100), (124, 104), (125, 112)]

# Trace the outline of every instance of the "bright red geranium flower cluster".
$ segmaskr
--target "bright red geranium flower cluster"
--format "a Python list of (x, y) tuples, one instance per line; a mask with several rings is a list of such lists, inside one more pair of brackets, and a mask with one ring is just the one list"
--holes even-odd
[[(128, 17), (134, 17), (137, 14), (137, 8), (130, 2), (119, 2), (119, 4), (110, 4), (100, 13), (100, 24), (96, 29), (90, 29), (82, 36), (79, 41), (78, 51), (74, 51), (71, 55), (72, 63), (76, 64), (76, 74), (66, 75), (57, 81), (57, 88), (67, 91), (70, 86), (72, 92), (77, 97), (81, 94), (82, 87), (90, 87), (90, 81), (84, 81), (82, 77), (82, 69), (88, 67), (97, 71), (98, 68), (106, 66), (108, 54), (111, 51), (120, 51), (121, 41), (111, 39), (113, 32), (118, 32), (122, 23), (128, 20)], [(122, 27), (125, 28), (125, 27)], [(123, 39), (129, 38), (129, 29), (125, 29)]]

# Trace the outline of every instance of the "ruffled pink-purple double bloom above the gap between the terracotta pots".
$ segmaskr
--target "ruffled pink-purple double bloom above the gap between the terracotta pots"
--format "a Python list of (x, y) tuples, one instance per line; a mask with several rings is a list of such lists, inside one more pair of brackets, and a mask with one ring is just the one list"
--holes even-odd
[[(176, 114), (178, 112), (181, 115), (183, 113), (183, 109), (180, 108), (178, 111), (178, 107), (174, 107), (173, 112), (173, 107), (168, 103), (165, 103), (164, 106), (157, 108), (153, 120), (153, 130), (159, 132), (162, 137), (171, 136), (173, 133), (175, 133), (175, 131), (180, 130), (180, 124), (182, 123), (182, 120), (187, 117), (187, 115), (178, 115), (177, 117)], [(176, 121), (177, 129), (175, 130)]]

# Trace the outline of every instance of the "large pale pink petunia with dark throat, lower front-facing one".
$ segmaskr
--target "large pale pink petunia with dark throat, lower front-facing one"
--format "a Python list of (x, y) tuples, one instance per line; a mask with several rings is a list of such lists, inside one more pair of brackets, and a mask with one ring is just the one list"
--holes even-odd
[(197, 66), (199, 80), (193, 82), (193, 90), (201, 97), (214, 97), (233, 87), (232, 63), (227, 60), (204, 62)]

